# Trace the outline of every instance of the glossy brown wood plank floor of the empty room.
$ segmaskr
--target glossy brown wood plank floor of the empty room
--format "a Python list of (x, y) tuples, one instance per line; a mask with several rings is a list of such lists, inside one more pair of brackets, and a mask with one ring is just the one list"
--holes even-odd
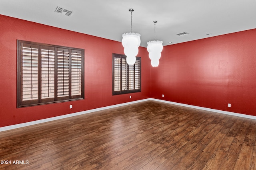
[(256, 120), (148, 101), (0, 132), (0, 169), (255, 170), (255, 140)]

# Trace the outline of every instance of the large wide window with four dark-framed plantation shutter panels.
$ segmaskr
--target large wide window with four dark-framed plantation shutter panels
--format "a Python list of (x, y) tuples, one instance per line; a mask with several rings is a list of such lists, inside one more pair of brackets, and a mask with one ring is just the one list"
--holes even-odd
[(17, 107), (84, 98), (84, 49), (17, 41)]

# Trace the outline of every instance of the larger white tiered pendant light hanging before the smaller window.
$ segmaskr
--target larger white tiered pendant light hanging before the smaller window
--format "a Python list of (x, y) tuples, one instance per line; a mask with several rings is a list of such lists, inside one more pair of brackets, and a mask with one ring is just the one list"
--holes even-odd
[(126, 63), (133, 65), (136, 62), (136, 55), (138, 55), (140, 46), (140, 34), (132, 32), (132, 12), (134, 9), (129, 9), (131, 12), (131, 32), (122, 35), (122, 45), (124, 47), (124, 54), (126, 55)]

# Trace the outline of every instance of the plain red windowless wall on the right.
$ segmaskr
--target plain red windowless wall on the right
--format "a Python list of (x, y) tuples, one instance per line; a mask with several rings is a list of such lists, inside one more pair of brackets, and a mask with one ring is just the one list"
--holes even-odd
[(165, 46), (151, 97), (256, 115), (255, 40), (252, 29)]

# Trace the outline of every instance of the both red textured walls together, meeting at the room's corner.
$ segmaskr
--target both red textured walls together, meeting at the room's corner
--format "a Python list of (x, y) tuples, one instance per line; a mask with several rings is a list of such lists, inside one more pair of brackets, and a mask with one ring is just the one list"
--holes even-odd
[[(112, 96), (120, 42), (2, 15), (0, 25), (0, 127), (150, 97), (256, 115), (256, 29), (165, 46), (158, 67), (140, 47), (142, 92)], [(17, 39), (85, 49), (85, 100), (17, 109)]]

